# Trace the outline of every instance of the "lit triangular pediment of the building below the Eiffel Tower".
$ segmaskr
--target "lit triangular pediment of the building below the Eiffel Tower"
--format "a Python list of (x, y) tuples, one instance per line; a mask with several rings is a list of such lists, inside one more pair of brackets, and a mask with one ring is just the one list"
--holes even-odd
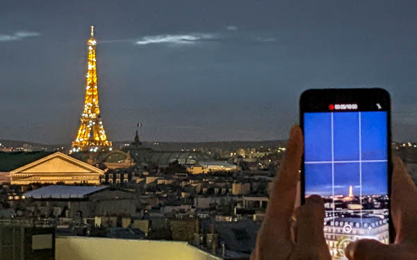
[(14, 171), (10, 171), (10, 173), (104, 173), (104, 171), (57, 152), (38, 159), (38, 161), (32, 162), (31, 164), (26, 164)]

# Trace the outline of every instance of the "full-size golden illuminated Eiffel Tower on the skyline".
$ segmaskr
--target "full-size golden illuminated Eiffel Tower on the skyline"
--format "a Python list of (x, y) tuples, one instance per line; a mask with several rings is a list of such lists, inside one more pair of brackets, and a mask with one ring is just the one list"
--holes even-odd
[(88, 62), (87, 75), (85, 76), (84, 110), (80, 118), (79, 131), (75, 141), (72, 142), (72, 152), (111, 150), (111, 141), (107, 140), (99, 110), (96, 64), (97, 40), (94, 38), (94, 26), (91, 26), (91, 37), (87, 41), (87, 46)]

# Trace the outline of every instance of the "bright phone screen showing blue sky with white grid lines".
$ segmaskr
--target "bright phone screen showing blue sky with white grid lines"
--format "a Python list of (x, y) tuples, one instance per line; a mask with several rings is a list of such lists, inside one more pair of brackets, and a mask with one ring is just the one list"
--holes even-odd
[(306, 197), (325, 199), (332, 259), (358, 239), (389, 243), (387, 112), (304, 113)]

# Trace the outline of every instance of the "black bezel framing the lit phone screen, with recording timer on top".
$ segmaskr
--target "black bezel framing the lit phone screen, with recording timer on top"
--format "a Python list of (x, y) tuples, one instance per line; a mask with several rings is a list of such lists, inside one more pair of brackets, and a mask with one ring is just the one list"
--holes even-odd
[[(304, 112), (332, 112), (329, 104), (357, 104), (357, 110), (343, 110), (338, 112), (352, 111), (378, 111), (376, 103), (379, 103), (387, 112), (387, 155), (388, 155), (388, 195), (389, 195), (389, 240), (393, 243), (395, 230), (393, 228), (391, 214), (391, 182), (393, 163), (391, 155), (391, 98), (389, 92), (381, 88), (368, 89), (308, 89), (300, 96), (300, 128), (304, 132)], [(334, 112), (334, 111), (333, 111)], [(301, 179), (301, 203), (305, 202), (305, 176), (304, 176), (304, 153), (300, 168)]]

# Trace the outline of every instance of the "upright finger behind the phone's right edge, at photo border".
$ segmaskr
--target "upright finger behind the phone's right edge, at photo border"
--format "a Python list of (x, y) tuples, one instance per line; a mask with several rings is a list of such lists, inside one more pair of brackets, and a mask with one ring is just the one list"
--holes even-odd
[(417, 241), (417, 230), (413, 228), (417, 215), (417, 188), (400, 157), (394, 156), (393, 163), (391, 211), (397, 232), (395, 242)]

